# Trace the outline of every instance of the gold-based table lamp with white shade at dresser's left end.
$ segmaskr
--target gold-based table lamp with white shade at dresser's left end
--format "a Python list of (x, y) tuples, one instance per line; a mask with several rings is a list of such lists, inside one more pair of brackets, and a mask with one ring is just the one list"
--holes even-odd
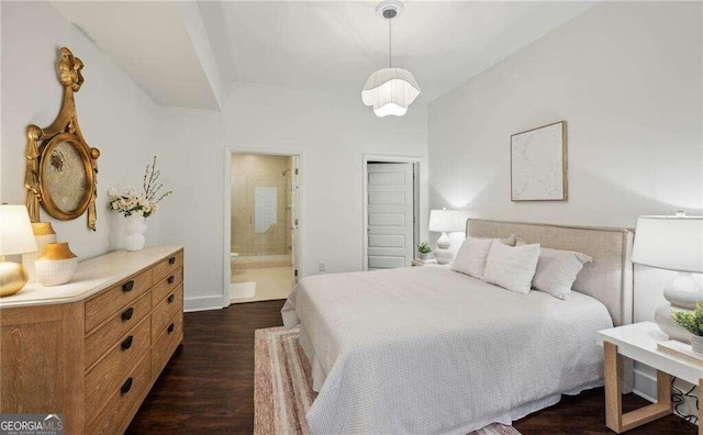
[(7, 255), (36, 250), (36, 241), (24, 205), (0, 205), (0, 297), (22, 290), (29, 279), (19, 263), (5, 261)]

